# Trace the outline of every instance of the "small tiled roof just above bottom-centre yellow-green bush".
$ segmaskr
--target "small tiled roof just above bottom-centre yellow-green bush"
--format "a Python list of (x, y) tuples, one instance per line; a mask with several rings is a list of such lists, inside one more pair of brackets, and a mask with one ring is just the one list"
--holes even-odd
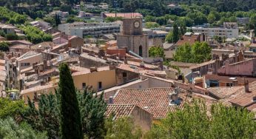
[(135, 105), (107, 105), (107, 111), (105, 112), (105, 116), (110, 117), (110, 115), (114, 114), (115, 118), (120, 118), (123, 116), (131, 116)]

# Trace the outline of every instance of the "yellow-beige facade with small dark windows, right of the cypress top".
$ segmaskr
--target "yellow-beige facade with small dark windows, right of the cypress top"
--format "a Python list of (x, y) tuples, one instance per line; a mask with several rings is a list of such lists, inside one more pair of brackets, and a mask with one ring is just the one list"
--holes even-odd
[(110, 87), (115, 87), (115, 69), (73, 75), (73, 80), (77, 89), (84, 89), (84, 87), (92, 86), (92, 89), (97, 92)]

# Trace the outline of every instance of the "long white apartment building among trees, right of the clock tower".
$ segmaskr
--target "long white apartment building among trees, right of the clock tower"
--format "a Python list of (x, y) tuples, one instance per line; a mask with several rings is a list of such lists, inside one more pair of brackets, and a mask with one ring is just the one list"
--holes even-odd
[(238, 38), (238, 25), (236, 23), (223, 23), (223, 27), (192, 27), (194, 33), (203, 33), (206, 37), (215, 35), (226, 38)]

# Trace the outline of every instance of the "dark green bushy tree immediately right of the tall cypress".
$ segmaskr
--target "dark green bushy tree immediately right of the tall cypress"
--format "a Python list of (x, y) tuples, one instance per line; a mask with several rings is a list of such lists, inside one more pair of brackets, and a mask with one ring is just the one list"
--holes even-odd
[(77, 94), (84, 134), (87, 138), (103, 138), (105, 135), (104, 113), (107, 110), (104, 93), (99, 98), (86, 90), (84, 93), (77, 92)]

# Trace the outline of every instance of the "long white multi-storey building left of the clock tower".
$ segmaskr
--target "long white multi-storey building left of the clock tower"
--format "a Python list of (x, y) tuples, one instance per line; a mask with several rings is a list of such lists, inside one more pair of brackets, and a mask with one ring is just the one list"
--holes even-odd
[(58, 30), (67, 35), (77, 35), (83, 38), (84, 35), (100, 37), (103, 34), (119, 33), (121, 24), (117, 23), (84, 23), (74, 22), (73, 24), (59, 24)]

